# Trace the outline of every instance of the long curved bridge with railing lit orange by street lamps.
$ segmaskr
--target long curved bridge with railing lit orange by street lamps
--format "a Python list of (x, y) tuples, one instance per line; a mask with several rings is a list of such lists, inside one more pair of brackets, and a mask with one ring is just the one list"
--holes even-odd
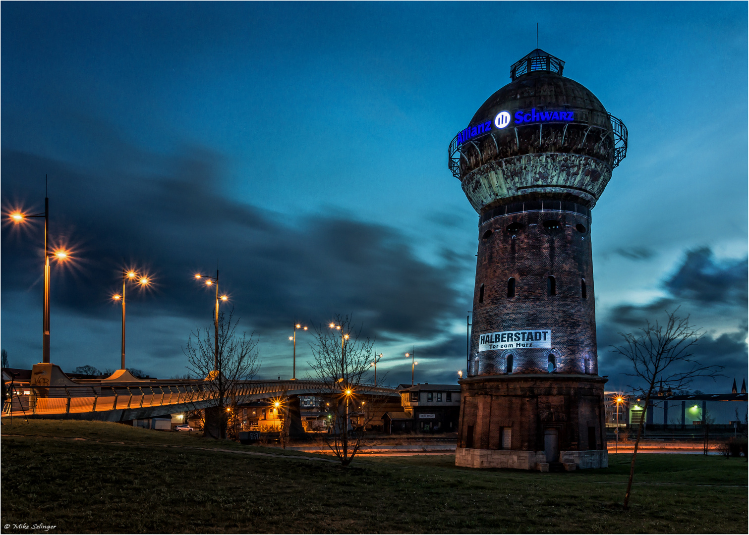
[[(42, 373), (38, 367), (44, 366)], [(10, 394), (10, 392), (8, 392)], [(237, 405), (276, 397), (333, 395), (321, 381), (252, 380), (237, 383)], [(395, 388), (360, 385), (356, 397), (385, 398), (400, 404)], [(43, 416), (79, 420), (130, 421), (205, 409), (215, 394), (204, 379), (139, 379), (118, 370), (107, 379), (71, 379), (55, 364), (37, 364), (28, 381), (15, 382), (3, 416)]]

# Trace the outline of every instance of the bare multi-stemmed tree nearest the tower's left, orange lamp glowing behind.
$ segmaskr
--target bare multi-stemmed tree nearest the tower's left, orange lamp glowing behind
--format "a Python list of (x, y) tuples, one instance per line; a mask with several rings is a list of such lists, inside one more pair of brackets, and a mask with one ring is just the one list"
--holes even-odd
[[(315, 327), (315, 340), (312, 342), (314, 360), (307, 364), (312, 369), (312, 379), (322, 383), (324, 397), (330, 403), (330, 432), (326, 435), (327, 445), (336, 454), (341, 464), (348, 466), (354, 460), (362, 445), (364, 430), (375, 411), (362, 403), (375, 403), (372, 387), (383, 384), (384, 374), (377, 381), (369, 382), (371, 364), (375, 351), (373, 341), (361, 337), (361, 327), (354, 328), (349, 315), (336, 315), (329, 325)], [(369, 393), (369, 401), (361, 398)], [(358, 428), (351, 427), (351, 416), (357, 414)]]

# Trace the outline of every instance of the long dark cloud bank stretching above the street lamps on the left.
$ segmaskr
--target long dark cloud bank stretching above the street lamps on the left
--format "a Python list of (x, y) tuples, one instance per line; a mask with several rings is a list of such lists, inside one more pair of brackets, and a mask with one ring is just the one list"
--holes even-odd
[[(465, 267), (449, 248), (434, 265), (392, 227), (346, 213), (288, 219), (235, 201), (219, 193), (224, 162), (206, 150), (154, 156), (110, 139), (109, 152), (129, 162), (118, 161), (106, 175), (27, 153), (2, 154), (4, 198), (31, 198), (28, 177), (49, 174), (51, 235), (78, 242), (76, 276), (53, 268), (56, 308), (99, 316), (112, 306), (121, 266), (133, 265), (153, 274), (154, 289), (129, 290), (130, 301), (143, 304), (128, 314), (204, 320), (212, 298), (192, 275), (213, 273), (218, 258), (222, 293), (254, 328), (352, 312), (365, 334), (423, 338), (463, 310), (453, 283)], [(27, 241), (4, 239), (2, 252), (4, 290), (37, 284), (39, 259)]]

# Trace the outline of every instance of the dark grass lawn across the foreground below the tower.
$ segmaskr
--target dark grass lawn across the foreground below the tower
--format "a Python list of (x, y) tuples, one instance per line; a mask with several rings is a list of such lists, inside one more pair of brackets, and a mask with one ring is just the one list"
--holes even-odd
[(638, 456), (625, 511), (623, 453), (610, 468), (568, 473), (456, 468), (442, 455), (341, 468), (103, 422), (14, 419), (2, 434), (3, 533), (34, 531), (13, 528), (24, 523), (56, 525), (49, 533), (748, 532), (748, 464), (721, 456)]

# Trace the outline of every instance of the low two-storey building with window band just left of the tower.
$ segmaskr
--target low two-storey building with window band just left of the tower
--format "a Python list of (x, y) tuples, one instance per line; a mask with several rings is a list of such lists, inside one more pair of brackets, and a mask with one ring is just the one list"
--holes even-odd
[(461, 409), (460, 385), (398, 385), (403, 412), (421, 432), (456, 432)]

